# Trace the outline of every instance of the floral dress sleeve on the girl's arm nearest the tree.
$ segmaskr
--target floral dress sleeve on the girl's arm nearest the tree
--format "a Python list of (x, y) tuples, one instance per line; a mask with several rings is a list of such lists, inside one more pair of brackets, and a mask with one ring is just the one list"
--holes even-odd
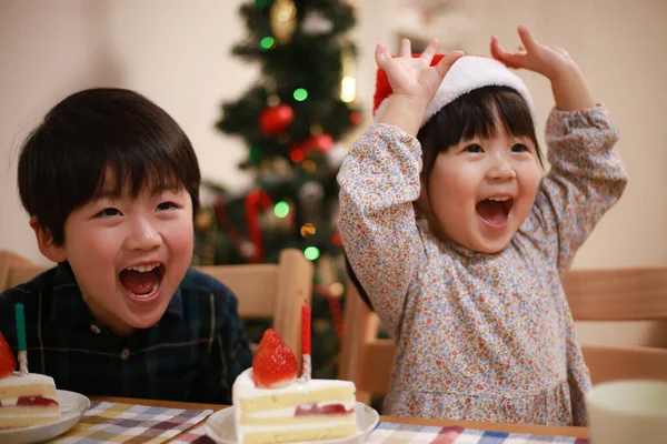
[(338, 175), (346, 254), (395, 337), (408, 287), (426, 259), (412, 206), (420, 171), (417, 139), (397, 127), (375, 124), (354, 144)]

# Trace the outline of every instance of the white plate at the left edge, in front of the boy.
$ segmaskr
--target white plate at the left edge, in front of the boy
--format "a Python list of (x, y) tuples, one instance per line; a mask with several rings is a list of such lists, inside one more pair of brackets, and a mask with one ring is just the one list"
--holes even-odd
[(52, 440), (72, 428), (90, 407), (88, 397), (67, 390), (58, 391), (58, 403), (60, 404), (60, 420), (30, 427), (0, 430), (0, 442), (2, 444), (28, 444)]

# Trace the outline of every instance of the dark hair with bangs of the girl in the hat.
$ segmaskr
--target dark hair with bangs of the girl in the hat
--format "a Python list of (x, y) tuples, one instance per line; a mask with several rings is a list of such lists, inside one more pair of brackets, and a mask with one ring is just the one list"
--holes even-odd
[[(535, 123), (530, 108), (518, 91), (508, 87), (484, 87), (461, 95), (442, 107), (417, 134), (421, 144), (422, 169), (420, 181), (428, 190), (428, 179), (438, 154), (449, 150), (461, 140), (475, 137), (496, 135), (496, 115), (505, 131), (511, 135), (530, 138), (535, 143), (537, 159), (544, 168), (544, 159), (535, 134)], [(357, 287), (361, 300), (372, 310), (368, 293), (359, 282), (346, 256), (350, 281)]]

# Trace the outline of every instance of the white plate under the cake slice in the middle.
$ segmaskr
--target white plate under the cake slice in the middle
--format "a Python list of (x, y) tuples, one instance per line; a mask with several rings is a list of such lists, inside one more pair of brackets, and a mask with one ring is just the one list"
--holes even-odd
[[(355, 414), (357, 415), (357, 434), (352, 436), (339, 437), (330, 441), (311, 441), (317, 444), (358, 444), (368, 438), (374, 431), (380, 416), (378, 412), (360, 402), (355, 403)], [(213, 413), (206, 420), (206, 434), (218, 444), (237, 444), (236, 426), (233, 424), (233, 407), (227, 407)]]

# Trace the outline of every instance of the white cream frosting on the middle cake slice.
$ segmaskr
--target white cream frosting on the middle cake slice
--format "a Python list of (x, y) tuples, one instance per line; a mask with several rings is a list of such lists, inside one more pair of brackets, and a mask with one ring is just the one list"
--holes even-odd
[[(356, 422), (356, 418), (352, 416), (349, 420), (341, 421), (328, 421), (321, 423), (303, 423), (303, 424), (288, 424), (288, 425), (240, 425), (241, 420), (241, 408), (240, 401), (241, 398), (248, 397), (260, 397), (260, 396), (269, 396), (269, 395), (281, 395), (281, 394), (290, 394), (290, 393), (308, 393), (315, 390), (321, 389), (330, 389), (330, 387), (352, 387), (352, 393), (355, 392), (355, 383), (350, 381), (339, 381), (339, 380), (310, 380), (308, 382), (303, 382), (300, 380), (295, 380), (289, 385), (279, 389), (261, 389), (255, 385), (255, 380), (252, 380), (252, 369), (246, 370), (241, 373), (235, 381), (232, 387), (232, 403), (233, 403), (233, 417), (236, 424), (236, 433), (237, 433), (237, 442), (243, 442), (243, 435), (246, 433), (251, 432), (270, 432), (270, 431), (289, 431), (289, 430), (308, 430), (308, 428), (318, 428), (326, 426), (338, 426), (349, 424), (350, 422)], [(340, 404), (340, 403), (336, 403)], [(354, 408), (355, 402), (342, 403), (346, 410)], [(321, 405), (326, 405), (322, 403)], [(296, 411), (296, 407), (291, 408), (280, 408), (273, 410), (271, 412), (258, 412), (255, 413), (256, 417), (272, 417), (272, 416), (283, 416), (285, 413), (291, 413)]]

